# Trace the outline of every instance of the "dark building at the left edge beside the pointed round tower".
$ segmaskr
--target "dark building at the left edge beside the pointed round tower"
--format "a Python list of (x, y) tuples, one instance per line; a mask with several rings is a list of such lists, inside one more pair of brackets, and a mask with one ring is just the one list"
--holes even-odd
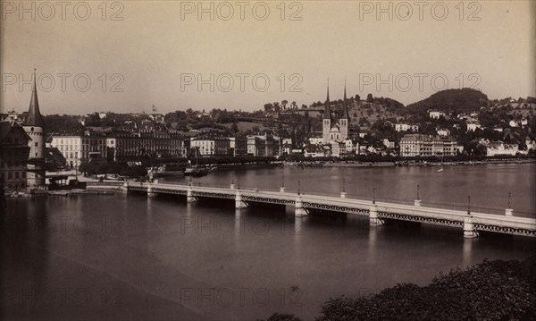
[(4, 190), (26, 190), (30, 141), (18, 122), (0, 122), (0, 183)]

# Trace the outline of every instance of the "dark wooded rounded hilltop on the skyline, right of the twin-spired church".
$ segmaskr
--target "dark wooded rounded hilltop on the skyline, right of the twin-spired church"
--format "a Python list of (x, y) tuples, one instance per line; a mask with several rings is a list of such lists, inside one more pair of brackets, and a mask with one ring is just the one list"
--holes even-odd
[(431, 97), (406, 106), (409, 112), (422, 112), (429, 109), (445, 113), (467, 113), (488, 106), (488, 96), (475, 89), (448, 89), (437, 92)]

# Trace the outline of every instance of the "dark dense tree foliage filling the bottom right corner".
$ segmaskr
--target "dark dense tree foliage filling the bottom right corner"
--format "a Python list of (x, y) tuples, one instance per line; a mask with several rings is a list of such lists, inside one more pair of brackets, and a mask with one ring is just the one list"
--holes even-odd
[(316, 321), (512, 320), (536, 316), (536, 258), (484, 260), (435, 277), (428, 286), (398, 284), (368, 298), (330, 299)]

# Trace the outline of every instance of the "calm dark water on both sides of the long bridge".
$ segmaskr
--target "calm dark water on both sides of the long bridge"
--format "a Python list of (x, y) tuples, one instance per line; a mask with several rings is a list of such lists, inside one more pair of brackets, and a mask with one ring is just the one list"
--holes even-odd
[[(211, 173), (201, 185), (423, 202), (518, 215), (535, 212), (536, 165), (437, 168), (271, 168)], [(177, 182), (185, 182), (180, 178)], [(295, 219), (292, 208), (114, 196), (10, 199), (2, 217), (2, 314), (38, 319), (255, 319), (318, 315), (331, 296), (430, 283), (483, 258), (523, 259), (536, 242), (457, 229), (368, 226), (352, 215)]]

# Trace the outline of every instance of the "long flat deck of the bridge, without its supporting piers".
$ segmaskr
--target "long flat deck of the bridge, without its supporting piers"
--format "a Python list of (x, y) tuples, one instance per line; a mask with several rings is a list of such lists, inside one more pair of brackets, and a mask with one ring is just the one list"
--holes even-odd
[[(193, 197), (236, 199), (237, 192), (245, 202), (261, 202), (294, 206), (297, 193), (279, 192), (269, 190), (235, 190), (230, 188), (217, 188), (205, 186), (188, 186), (165, 183), (132, 184), (128, 190), (148, 191), (163, 194), (187, 195), (188, 189)], [(428, 224), (441, 224), (462, 227), (467, 212), (435, 208), (420, 207), (387, 202), (375, 202), (361, 199), (337, 198), (322, 195), (299, 195), (305, 208), (329, 210), (348, 214), (369, 215), (371, 207), (375, 206), (378, 217), (383, 219), (396, 219)], [(494, 215), (486, 213), (471, 213), (474, 228), (480, 231), (506, 232), (527, 236), (536, 236), (536, 219), (507, 215)]]

